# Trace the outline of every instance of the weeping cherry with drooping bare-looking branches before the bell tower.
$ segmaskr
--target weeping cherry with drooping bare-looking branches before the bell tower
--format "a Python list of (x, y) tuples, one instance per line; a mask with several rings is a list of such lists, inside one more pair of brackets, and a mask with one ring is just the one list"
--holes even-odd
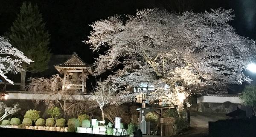
[[(69, 82), (69, 80), (66, 81)], [(52, 75), (50, 78), (31, 77), (29, 78), (29, 85), (26, 86), (26, 90), (33, 93), (41, 92), (51, 95), (46, 100), (34, 100), (35, 104), (41, 101), (44, 101), (49, 106), (58, 104), (63, 111), (63, 117), (66, 117), (70, 108), (79, 104), (79, 101), (71, 97), (72, 95), (78, 94), (78, 92), (73, 88), (62, 90), (62, 78), (58, 74)]]

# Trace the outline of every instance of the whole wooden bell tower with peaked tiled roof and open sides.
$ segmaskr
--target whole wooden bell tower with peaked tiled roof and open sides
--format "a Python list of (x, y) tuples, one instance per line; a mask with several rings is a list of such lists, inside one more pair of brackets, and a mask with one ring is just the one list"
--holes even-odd
[(61, 74), (64, 74), (62, 90), (69, 88), (82, 89), (86, 92), (86, 77), (93, 74), (91, 66), (85, 63), (78, 55), (73, 53), (65, 63), (54, 66)]

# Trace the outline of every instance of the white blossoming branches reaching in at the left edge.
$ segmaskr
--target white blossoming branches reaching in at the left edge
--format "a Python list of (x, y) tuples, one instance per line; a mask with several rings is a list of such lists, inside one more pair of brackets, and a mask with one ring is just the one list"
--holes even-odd
[(23, 52), (14, 48), (9, 40), (0, 37), (0, 76), (3, 79), (13, 84), (12, 80), (9, 80), (5, 74), (8, 72), (17, 74), (23, 71), (22, 63), (30, 64), (31, 62), (32, 60), (27, 58)]

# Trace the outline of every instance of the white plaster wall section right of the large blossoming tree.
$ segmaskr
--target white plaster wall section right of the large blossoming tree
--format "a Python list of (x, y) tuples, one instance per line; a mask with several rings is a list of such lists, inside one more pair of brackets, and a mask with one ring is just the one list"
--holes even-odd
[(224, 103), (227, 101), (231, 103), (242, 103), (242, 100), (239, 97), (202, 96), (197, 98), (197, 103)]

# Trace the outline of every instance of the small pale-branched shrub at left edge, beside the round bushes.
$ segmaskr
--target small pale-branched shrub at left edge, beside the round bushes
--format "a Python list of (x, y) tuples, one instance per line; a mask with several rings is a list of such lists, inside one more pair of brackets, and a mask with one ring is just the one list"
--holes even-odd
[(14, 104), (14, 107), (7, 107), (5, 103), (0, 102), (0, 121), (4, 120), (4, 118), (8, 117), (11, 114), (15, 114), (17, 113), (17, 111), (20, 110), (20, 108), (18, 108), (18, 104)]

